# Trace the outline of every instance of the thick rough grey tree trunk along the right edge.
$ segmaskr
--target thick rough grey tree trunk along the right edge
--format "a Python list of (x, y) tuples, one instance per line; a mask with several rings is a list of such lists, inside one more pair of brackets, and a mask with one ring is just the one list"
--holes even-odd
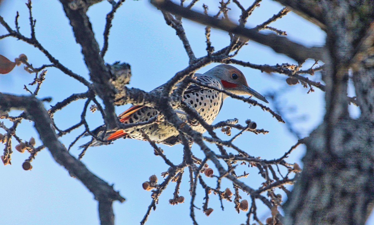
[[(374, 204), (373, 2), (319, 3), (328, 49), (324, 121), (307, 140), (285, 224), (365, 224)], [(370, 9), (370, 10), (369, 10)], [(361, 109), (348, 113), (349, 70)]]

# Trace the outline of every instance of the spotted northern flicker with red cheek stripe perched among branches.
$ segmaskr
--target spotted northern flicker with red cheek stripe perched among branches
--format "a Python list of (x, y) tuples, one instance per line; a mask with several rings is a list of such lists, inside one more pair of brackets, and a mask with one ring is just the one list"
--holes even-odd
[[(259, 94), (257, 91), (250, 88), (247, 84), (243, 73), (230, 65), (221, 64), (215, 66), (204, 74), (195, 74), (197, 81), (200, 81), (211, 87), (215, 87), (221, 90), (226, 90), (232, 94), (237, 95), (251, 95), (260, 99), (266, 103), (269, 103), (264, 96)], [(163, 88), (162, 86), (158, 88)], [(190, 85), (186, 91), (184, 91), (183, 99), (186, 103), (190, 104), (200, 116), (208, 123), (212, 124), (213, 120), (220, 112), (223, 104), (223, 100), (226, 99), (227, 95), (219, 91), (215, 91), (209, 88), (200, 87), (197, 85)], [(182, 109), (176, 109), (178, 117), (183, 121), (187, 121), (187, 115)], [(148, 121), (154, 116), (159, 116), (159, 112), (156, 109), (147, 106), (132, 106), (125, 112), (121, 113), (118, 118), (120, 122), (124, 124), (131, 124), (136, 122)], [(191, 128), (197, 132), (203, 133), (205, 129), (200, 124), (193, 124)], [(174, 145), (179, 143), (178, 141), (178, 130), (170, 124), (168, 121), (157, 122), (150, 125), (142, 126), (142, 128), (132, 127), (125, 130), (117, 130), (107, 132), (103, 140), (113, 141), (118, 138), (134, 138), (138, 140), (144, 140), (144, 135), (141, 130), (148, 135), (148, 137), (156, 143), (163, 143), (168, 145)], [(96, 128), (95, 132), (98, 137), (102, 135), (103, 126)], [(101, 133), (100, 133), (101, 132)], [(102, 145), (101, 141), (93, 140), (90, 146)], [(81, 147), (84, 147), (83, 145)]]

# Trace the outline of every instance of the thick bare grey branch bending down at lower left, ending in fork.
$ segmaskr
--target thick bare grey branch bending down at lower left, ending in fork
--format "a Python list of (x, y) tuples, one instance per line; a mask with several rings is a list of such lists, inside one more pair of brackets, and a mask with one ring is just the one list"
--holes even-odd
[(9, 111), (10, 109), (27, 111), (30, 118), (34, 121), (40, 140), (48, 148), (53, 159), (92, 192), (99, 203), (99, 209), (101, 209), (99, 210), (101, 221), (105, 221), (104, 224), (113, 224), (113, 219), (107, 219), (113, 217), (111, 203), (116, 200), (123, 202), (125, 199), (117, 191), (114, 191), (113, 186), (93, 174), (82, 162), (69, 154), (64, 145), (58, 140), (58, 135), (52, 128), (52, 121), (42, 101), (33, 96), (0, 94), (0, 111)]

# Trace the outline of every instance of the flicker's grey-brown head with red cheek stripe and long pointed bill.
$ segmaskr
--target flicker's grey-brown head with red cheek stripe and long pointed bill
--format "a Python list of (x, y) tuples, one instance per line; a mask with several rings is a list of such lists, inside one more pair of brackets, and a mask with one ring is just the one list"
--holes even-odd
[(264, 96), (248, 86), (247, 80), (245, 79), (242, 71), (233, 66), (221, 64), (210, 69), (205, 74), (209, 74), (220, 79), (224, 90), (229, 91), (232, 94), (248, 94), (260, 99), (261, 101), (269, 103)]

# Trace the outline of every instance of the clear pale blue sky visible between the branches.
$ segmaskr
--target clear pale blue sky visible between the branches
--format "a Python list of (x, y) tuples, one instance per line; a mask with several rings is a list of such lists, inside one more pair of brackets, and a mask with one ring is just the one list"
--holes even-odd
[[(14, 17), (19, 11), (19, 24), (24, 35), (30, 34), (28, 25), (28, 12), (25, 6), (26, 1), (5, 1), (0, 8), (1, 16), (14, 27)], [(218, 5), (215, 1), (204, 1), (209, 6), (209, 12), (215, 14)], [(249, 4), (249, 3), (248, 3)], [(197, 10), (201, 10), (202, 3), (197, 4)], [(239, 11), (231, 6), (229, 15), (237, 21)], [(249, 17), (247, 27), (253, 27), (269, 19), (273, 14), (279, 12), (282, 6), (273, 1), (264, 0), (261, 7), (254, 10)], [(96, 39), (102, 46), (102, 33), (105, 26), (105, 15), (111, 10), (107, 1), (92, 6), (88, 15), (91, 19)], [(34, 1), (33, 15), (36, 22), (36, 37), (43, 46), (52, 53), (63, 65), (70, 68), (79, 75), (88, 79), (88, 70), (83, 62), (80, 53), (80, 46), (76, 44), (68, 19), (65, 17), (59, 1)], [(206, 54), (204, 26), (184, 20), (187, 37), (197, 57)], [(294, 13), (288, 13), (271, 26), (287, 32), (288, 38), (303, 43), (307, 46), (323, 45), (325, 34), (319, 28), (304, 21)], [(0, 28), (0, 35), (5, 30)], [(220, 49), (229, 43), (226, 32), (212, 30), (211, 41), (215, 49)], [(39, 67), (48, 64), (46, 57), (37, 51), (33, 46), (17, 41), (14, 38), (0, 40), (0, 54), (13, 59), (24, 53), (28, 56), (29, 62)], [(275, 54), (270, 48), (260, 44), (249, 42), (236, 59), (257, 64), (275, 65), (276, 63), (295, 63), (286, 56)], [(109, 49), (105, 55), (105, 62), (115, 61), (127, 62), (131, 65), (132, 79), (130, 87), (137, 87), (145, 91), (163, 84), (176, 72), (188, 65), (187, 54), (175, 30), (165, 24), (162, 14), (149, 1), (127, 0), (117, 11), (113, 20), (113, 27), (109, 37)], [(306, 69), (312, 65), (314, 60), (306, 63)], [(202, 68), (203, 73), (217, 64)], [(22, 66), (21, 66), (22, 67)], [(6, 75), (1, 75), (0, 91), (5, 93), (27, 94), (23, 85), (32, 81), (34, 75), (26, 73), (21, 67), (15, 68)], [(309, 134), (322, 121), (324, 114), (324, 93), (315, 88), (315, 92), (307, 94), (307, 89), (302, 86), (288, 86), (285, 76), (269, 75), (260, 71), (241, 68), (246, 75), (248, 84), (261, 94), (268, 91), (277, 91), (286, 88), (286, 94), (282, 95), (281, 106), (289, 109), (289, 119), (296, 122), (296, 128), (303, 137)], [(310, 76), (309, 76), (310, 77)], [(321, 75), (316, 73), (310, 79), (320, 80)], [(33, 87), (30, 87), (33, 88)], [(33, 90), (33, 89), (31, 89)], [(86, 91), (86, 88), (74, 79), (62, 74), (56, 69), (48, 69), (46, 80), (43, 82), (39, 97), (52, 97), (50, 104), (65, 99), (72, 93)], [(80, 113), (84, 101), (76, 101), (54, 116), (56, 124), (61, 129), (68, 128), (80, 120)], [(269, 104), (272, 107), (272, 102)], [(48, 104), (46, 104), (48, 108)], [(117, 113), (121, 113), (129, 106), (117, 107)], [(352, 109), (352, 113), (357, 110)], [(18, 112), (15, 112), (18, 113)], [(352, 114), (352, 115), (353, 115)], [(249, 107), (248, 104), (238, 100), (227, 99), (215, 122), (238, 118), (241, 124), (246, 119), (255, 121), (258, 128), (264, 128), (269, 132), (266, 135), (255, 135), (248, 133), (236, 140), (236, 145), (251, 155), (261, 156), (265, 159), (280, 157), (285, 151), (296, 143), (296, 139), (289, 134), (284, 124), (272, 118), (269, 113), (263, 112), (258, 107)], [(98, 112), (88, 113), (87, 119), (91, 128), (102, 124), (101, 115)], [(31, 136), (36, 137), (37, 144), (40, 144), (38, 135), (33, 124), (22, 121), (18, 128), (18, 136), (28, 140)], [(0, 131), (3, 132), (3, 131)], [(82, 132), (82, 129), (71, 132), (61, 138), (61, 141), (68, 146), (74, 138)], [(222, 138), (227, 139), (223, 134)], [(80, 150), (79, 144), (89, 139), (81, 140), (76, 147), (70, 151), (77, 156)], [(182, 147), (160, 146), (167, 157), (178, 163), (182, 160)], [(201, 151), (194, 146), (193, 153), (202, 156)], [(304, 154), (304, 147), (296, 149), (288, 158), (289, 163), (298, 162)], [(6, 212), (1, 218), (3, 224), (98, 224), (97, 203), (93, 195), (76, 179), (71, 178), (64, 168), (59, 166), (45, 149), (33, 160), (33, 169), (24, 171), (22, 163), (28, 157), (27, 153), (14, 152), (12, 165), (0, 166), (3, 181), (0, 184), (2, 195), (2, 209)], [(139, 224), (151, 202), (151, 192), (141, 188), (142, 182), (150, 175), (156, 174), (159, 177), (168, 167), (160, 157), (154, 156), (153, 149), (148, 143), (138, 140), (117, 140), (109, 146), (90, 148), (83, 157), (83, 163), (96, 175), (110, 184), (126, 198), (125, 203), (114, 203), (114, 213), (117, 224)], [(300, 163), (301, 164), (301, 163)], [(238, 171), (246, 171), (251, 174), (244, 182), (257, 188), (262, 179), (255, 169), (238, 167)], [(240, 173), (240, 172), (239, 172)], [(185, 176), (187, 173), (185, 174)], [(186, 198), (185, 203), (172, 206), (168, 199), (172, 198), (175, 183), (161, 195), (155, 212), (151, 212), (148, 224), (191, 224), (189, 218), (189, 192), (187, 176), (184, 177), (180, 195)], [(210, 185), (215, 186), (215, 179), (205, 179)], [(230, 183), (224, 181), (222, 187), (231, 187)], [(198, 188), (199, 189), (199, 188)], [(241, 193), (243, 199), (249, 199), (246, 194)], [(197, 191), (195, 204), (201, 207), (203, 203), (203, 191)], [(264, 221), (270, 215), (270, 211), (263, 207), (260, 202), (258, 216)], [(201, 210), (196, 210), (196, 218), (199, 224), (241, 224), (246, 220), (246, 213), (237, 215), (234, 204), (224, 202), (225, 210), (221, 211), (217, 196), (211, 196), (209, 207), (214, 212), (205, 216)]]

